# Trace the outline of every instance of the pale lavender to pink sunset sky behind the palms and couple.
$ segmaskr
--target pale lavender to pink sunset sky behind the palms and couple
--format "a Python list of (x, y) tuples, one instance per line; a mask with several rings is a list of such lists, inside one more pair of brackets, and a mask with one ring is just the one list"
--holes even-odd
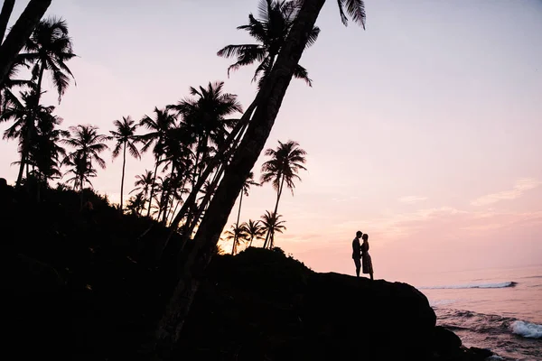
[[(17, 1), (12, 20), (27, 3)], [(313, 88), (292, 81), (266, 143), (292, 139), (308, 153), (303, 181), (281, 199), (287, 230), (276, 245), (315, 271), (353, 274), (361, 230), (375, 277), (391, 281), (542, 263), (542, 1), (365, 3), (363, 31), (326, 2), (318, 42), (300, 61)], [(216, 51), (252, 43), (236, 30), (251, 12), (257, 0), (53, 0), (47, 14), (69, 24), (77, 86), (60, 106), (52, 89), (44, 102), (58, 106), (62, 126), (104, 133), (210, 81), (248, 106), (255, 68), (228, 78), (231, 60)], [(14, 181), (16, 144), (0, 142), (0, 154), (0, 176)], [(121, 163), (93, 181), (114, 201)], [(126, 189), (145, 169), (150, 154), (126, 161)], [(269, 185), (253, 189), (241, 221), (275, 199)]]

